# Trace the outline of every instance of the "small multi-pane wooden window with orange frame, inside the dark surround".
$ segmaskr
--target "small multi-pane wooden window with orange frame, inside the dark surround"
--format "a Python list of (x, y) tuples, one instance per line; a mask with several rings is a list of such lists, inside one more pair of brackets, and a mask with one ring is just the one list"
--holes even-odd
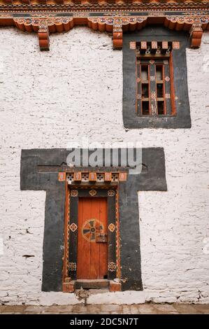
[(136, 43), (136, 114), (173, 116), (172, 42)]

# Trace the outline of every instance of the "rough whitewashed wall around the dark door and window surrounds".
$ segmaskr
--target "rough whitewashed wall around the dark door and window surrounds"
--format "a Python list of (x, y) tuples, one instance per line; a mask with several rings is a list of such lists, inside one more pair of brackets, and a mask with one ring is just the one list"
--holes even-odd
[[(14, 28), (1, 28), (0, 41), (0, 302), (78, 302), (41, 293), (45, 192), (20, 191), (20, 152), (65, 148), (82, 136), (164, 147), (168, 191), (138, 193), (145, 300), (209, 302), (209, 34), (199, 50), (187, 50), (190, 130), (124, 130), (122, 51), (106, 34), (85, 27), (54, 34), (50, 52), (40, 52), (36, 34)], [(143, 302), (143, 295), (102, 300)]]

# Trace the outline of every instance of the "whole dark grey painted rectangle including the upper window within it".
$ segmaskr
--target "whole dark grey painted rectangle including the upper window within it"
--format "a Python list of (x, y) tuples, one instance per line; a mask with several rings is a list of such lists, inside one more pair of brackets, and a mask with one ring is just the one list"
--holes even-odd
[(188, 46), (187, 33), (159, 26), (124, 34), (124, 127), (191, 127), (187, 89)]

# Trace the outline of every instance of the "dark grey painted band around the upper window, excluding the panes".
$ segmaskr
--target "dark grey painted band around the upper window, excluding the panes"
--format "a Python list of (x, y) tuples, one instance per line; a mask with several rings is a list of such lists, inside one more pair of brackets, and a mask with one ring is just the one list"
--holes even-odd
[[(131, 43), (140, 41), (178, 41), (179, 49), (173, 49), (169, 59), (171, 79), (171, 113), (159, 116), (138, 116), (136, 112), (136, 50)], [(191, 118), (187, 87), (186, 48), (187, 32), (169, 31), (165, 27), (145, 27), (140, 31), (124, 34), (123, 45), (123, 121), (124, 127), (140, 128), (190, 128)], [(153, 56), (154, 57), (154, 56)], [(161, 56), (163, 58), (164, 56)], [(159, 57), (158, 57), (159, 58)]]

